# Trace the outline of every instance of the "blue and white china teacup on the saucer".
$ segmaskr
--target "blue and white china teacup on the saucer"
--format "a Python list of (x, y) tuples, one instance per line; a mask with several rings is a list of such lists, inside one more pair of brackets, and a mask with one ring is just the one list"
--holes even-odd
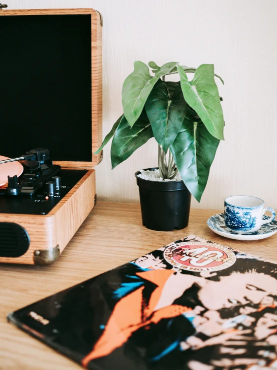
[[(265, 211), (271, 212), (269, 219), (263, 220)], [(273, 221), (275, 211), (264, 207), (262, 199), (247, 195), (236, 195), (224, 200), (225, 225), (236, 234), (251, 234), (261, 225)]]

